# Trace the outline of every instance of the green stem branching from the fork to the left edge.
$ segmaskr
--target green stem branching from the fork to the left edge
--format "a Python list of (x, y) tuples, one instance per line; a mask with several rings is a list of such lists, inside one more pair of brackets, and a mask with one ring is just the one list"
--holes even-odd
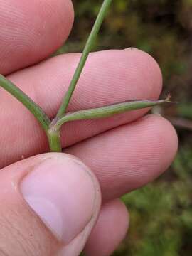
[(50, 124), (50, 119), (45, 112), (39, 107), (28, 95), (20, 90), (13, 82), (7, 80), (3, 75), (0, 75), (0, 87), (11, 93), (16, 99), (21, 102), (40, 122), (43, 129), (47, 132)]

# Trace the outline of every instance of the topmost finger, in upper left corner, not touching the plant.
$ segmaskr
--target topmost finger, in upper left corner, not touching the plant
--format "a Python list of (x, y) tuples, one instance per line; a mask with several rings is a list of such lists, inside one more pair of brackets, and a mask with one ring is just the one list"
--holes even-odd
[(7, 75), (47, 58), (73, 26), (71, 0), (2, 0), (0, 73)]

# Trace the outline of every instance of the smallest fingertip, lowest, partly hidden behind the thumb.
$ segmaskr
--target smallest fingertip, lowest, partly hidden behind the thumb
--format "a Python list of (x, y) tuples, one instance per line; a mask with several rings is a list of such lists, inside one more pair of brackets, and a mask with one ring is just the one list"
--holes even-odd
[(92, 256), (112, 255), (127, 234), (128, 227), (129, 214), (124, 203), (119, 199), (105, 203), (85, 246), (85, 253)]

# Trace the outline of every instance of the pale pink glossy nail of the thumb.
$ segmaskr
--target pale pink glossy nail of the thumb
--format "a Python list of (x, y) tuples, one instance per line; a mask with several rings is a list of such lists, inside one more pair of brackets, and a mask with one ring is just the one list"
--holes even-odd
[(94, 214), (93, 180), (87, 166), (57, 154), (34, 166), (20, 188), (23, 198), (43, 223), (67, 244), (84, 230)]

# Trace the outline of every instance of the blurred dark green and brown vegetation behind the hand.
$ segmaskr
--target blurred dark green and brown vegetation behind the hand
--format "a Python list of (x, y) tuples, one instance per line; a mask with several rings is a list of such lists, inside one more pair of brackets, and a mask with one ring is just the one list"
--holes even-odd
[[(81, 52), (102, 1), (73, 0), (75, 25), (58, 50)], [(192, 0), (116, 0), (94, 50), (137, 47), (158, 61), (168, 92), (178, 105), (156, 108), (175, 125), (178, 155), (166, 174), (123, 200), (129, 234), (115, 256), (192, 255)]]

